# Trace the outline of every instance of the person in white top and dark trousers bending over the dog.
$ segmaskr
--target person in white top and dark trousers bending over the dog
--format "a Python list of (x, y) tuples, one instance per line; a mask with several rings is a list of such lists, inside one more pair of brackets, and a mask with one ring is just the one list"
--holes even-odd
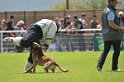
[[(28, 29), (25, 37), (5, 37), (4, 42), (12, 42), (16, 46), (30, 47), (32, 51), (33, 42), (40, 44), (40, 39), (45, 39), (45, 49), (47, 50), (52, 39), (54, 38), (57, 32), (57, 26), (54, 21), (48, 19), (42, 19), (34, 24), (31, 24)], [(24, 73), (30, 72), (29, 68), (33, 66), (32, 52), (28, 57), (26, 62)]]

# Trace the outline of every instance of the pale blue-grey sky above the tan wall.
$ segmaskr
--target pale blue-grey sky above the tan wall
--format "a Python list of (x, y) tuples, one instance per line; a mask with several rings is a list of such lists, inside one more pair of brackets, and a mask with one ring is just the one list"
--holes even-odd
[[(4, 11), (48, 11), (56, 3), (60, 3), (63, 1), (65, 0), (0, 0), (0, 12), (4, 12)], [(76, 0), (76, 1), (83, 1), (83, 0)], [(124, 4), (124, 0), (120, 0), (120, 1), (122, 1)]]

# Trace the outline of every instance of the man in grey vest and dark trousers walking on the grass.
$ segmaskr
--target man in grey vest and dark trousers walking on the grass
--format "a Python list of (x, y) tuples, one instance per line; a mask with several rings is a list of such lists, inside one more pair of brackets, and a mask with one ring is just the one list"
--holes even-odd
[(102, 36), (104, 41), (104, 50), (98, 60), (97, 70), (102, 71), (107, 54), (113, 46), (114, 53), (112, 58), (112, 70), (120, 71), (118, 68), (118, 58), (120, 55), (120, 44), (123, 37), (124, 28), (119, 26), (119, 20), (116, 15), (117, 0), (108, 0), (108, 5), (102, 13)]

